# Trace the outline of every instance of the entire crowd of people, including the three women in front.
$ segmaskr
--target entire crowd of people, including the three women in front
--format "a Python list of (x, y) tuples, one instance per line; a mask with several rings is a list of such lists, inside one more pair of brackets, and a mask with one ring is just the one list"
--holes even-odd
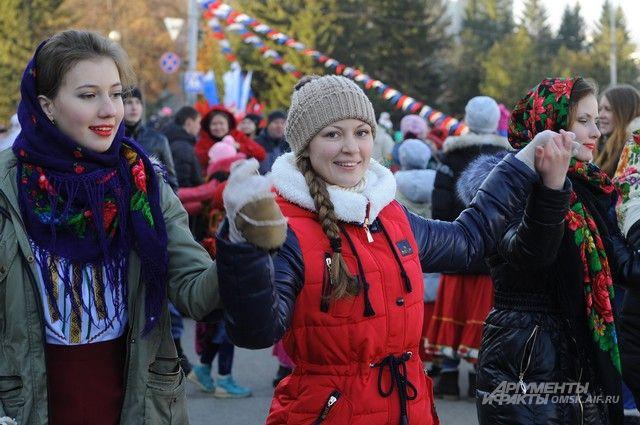
[(134, 81), (58, 33), (0, 128), (0, 424), (185, 424), (186, 379), (252, 395), (236, 346), (273, 347), (268, 424), (640, 423), (633, 86), (477, 96), (448, 135), (336, 75), (153, 122)]

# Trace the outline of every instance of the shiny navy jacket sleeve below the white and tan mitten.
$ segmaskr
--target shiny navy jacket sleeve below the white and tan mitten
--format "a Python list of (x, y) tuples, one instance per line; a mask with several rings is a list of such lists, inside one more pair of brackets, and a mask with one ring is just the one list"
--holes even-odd
[(227, 333), (240, 347), (270, 347), (291, 324), (304, 282), (298, 239), (288, 229), (284, 245), (270, 254), (248, 243), (230, 243), (227, 232), (225, 221), (216, 260)]

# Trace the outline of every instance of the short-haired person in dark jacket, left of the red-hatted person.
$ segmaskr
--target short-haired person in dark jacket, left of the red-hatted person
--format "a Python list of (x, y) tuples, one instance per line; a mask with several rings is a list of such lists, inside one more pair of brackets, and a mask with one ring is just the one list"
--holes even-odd
[(200, 162), (194, 152), (199, 131), (200, 114), (191, 106), (180, 108), (176, 112), (173, 124), (164, 130), (169, 139), (180, 187), (194, 187), (203, 183)]

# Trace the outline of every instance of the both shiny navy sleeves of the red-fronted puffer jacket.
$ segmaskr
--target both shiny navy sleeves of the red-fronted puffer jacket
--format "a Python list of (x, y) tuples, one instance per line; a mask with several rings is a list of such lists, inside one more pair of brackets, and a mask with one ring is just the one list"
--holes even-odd
[[(464, 269), (491, 252), (504, 233), (505, 220), (519, 209), (536, 180), (530, 169), (508, 156), (487, 178), (472, 208), (455, 222), (426, 220), (407, 212), (423, 270)], [(560, 192), (538, 193), (564, 197)], [(544, 222), (544, 217), (539, 220)], [(223, 226), (221, 235), (225, 232)], [(220, 295), (231, 339), (242, 347), (271, 346), (288, 328), (303, 285), (304, 264), (295, 235), (289, 231), (274, 256), (246, 243), (231, 244), (221, 236), (217, 243)]]

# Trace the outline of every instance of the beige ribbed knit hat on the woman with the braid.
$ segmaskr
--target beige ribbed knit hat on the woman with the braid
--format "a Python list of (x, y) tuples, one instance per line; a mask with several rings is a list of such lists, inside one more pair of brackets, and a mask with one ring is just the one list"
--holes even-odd
[(320, 130), (349, 118), (369, 124), (375, 138), (377, 123), (373, 106), (356, 83), (338, 75), (307, 75), (293, 89), (285, 138), (291, 150), (298, 154)]

